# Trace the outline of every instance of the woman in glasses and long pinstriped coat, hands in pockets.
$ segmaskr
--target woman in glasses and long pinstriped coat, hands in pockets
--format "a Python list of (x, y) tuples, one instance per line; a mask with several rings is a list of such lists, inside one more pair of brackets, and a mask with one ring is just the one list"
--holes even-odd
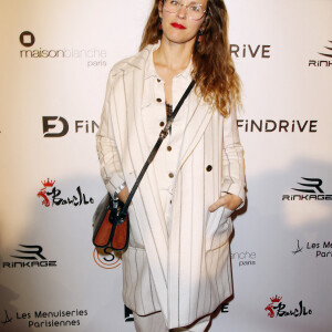
[(97, 151), (106, 188), (123, 201), (167, 111), (196, 81), (129, 207), (123, 299), (137, 331), (204, 331), (232, 293), (230, 215), (245, 175), (227, 24), (222, 0), (155, 0), (141, 52), (110, 73)]

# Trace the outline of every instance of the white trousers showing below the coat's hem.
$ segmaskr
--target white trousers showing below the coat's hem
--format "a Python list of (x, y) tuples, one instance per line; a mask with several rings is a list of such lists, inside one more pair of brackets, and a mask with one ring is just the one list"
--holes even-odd
[(160, 311), (148, 315), (138, 315), (133, 312), (133, 315), (135, 329), (137, 332), (204, 332), (210, 322), (210, 315), (207, 315), (196, 321), (194, 325), (168, 330), (165, 324), (164, 315)]

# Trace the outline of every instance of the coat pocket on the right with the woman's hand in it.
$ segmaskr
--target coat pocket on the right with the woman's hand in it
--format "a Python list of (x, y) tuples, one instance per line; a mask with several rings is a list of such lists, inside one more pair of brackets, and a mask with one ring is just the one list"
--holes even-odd
[(209, 212), (206, 226), (206, 250), (212, 250), (224, 246), (232, 231), (231, 214), (234, 211), (219, 207)]

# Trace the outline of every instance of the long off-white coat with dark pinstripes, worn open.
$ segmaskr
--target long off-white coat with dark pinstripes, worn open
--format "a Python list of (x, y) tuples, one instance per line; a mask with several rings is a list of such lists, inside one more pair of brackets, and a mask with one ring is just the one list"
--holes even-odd
[[(101, 172), (108, 191), (135, 183), (149, 148), (141, 105), (144, 69), (153, 46), (111, 70), (97, 133)], [(231, 211), (208, 207), (222, 193), (245, 200), (243, 153), (236, 114), (211, 112), (194, 91), (184, 133), (169, 230), (153, 167), (129, 207), (131, 240), (123, 255), (123, 299), (141, 315), (162, 310), (168, 329), (212, 312), (232, 293), (229, 236)], [(157, 137), (156, 137), (157, 139)], [(211, 166), (210, 172), (207, 166)], [(210, 167), (208, 168), (210, 169)]]

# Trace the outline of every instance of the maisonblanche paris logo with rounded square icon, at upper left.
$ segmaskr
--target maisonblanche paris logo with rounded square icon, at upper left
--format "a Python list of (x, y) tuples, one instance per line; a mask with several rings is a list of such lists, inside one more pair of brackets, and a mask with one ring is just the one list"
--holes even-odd
[(104, 59), (107, 56), (105, 50), (98, 49), (73, 49), (73, 48), (61, 48), (61, 49), (29, 49), (35, 43), (35, 37), (30, 31), (23, 31), (20, 34), (20, 43), (25, 48), (20, 50), (21, 59), (89, 59), (86, 65), (89, 68), (106, 66), (107, 63)]

